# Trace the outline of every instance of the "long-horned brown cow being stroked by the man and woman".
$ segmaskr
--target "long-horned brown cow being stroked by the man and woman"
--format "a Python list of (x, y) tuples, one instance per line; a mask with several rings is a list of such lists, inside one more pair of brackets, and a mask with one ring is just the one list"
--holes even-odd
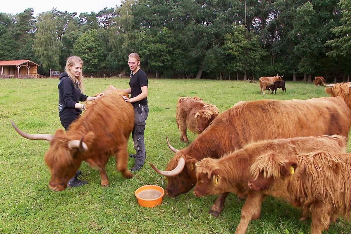
[(69, 126), (66, 133), (58, 129), (54, 135), (28, 134), (12, 122), (21, 136), (50, 142), (44, 156), (51, 173), (50, 189), (64, 190), (82, 161), (97, 168), (101, 186), (108, 186), (105, 166), (112, 154), (116, 159), (116, 169), (125, 178), (133, 176), (127, 170), (127, 141), (134, 127), (134, 111), (122, 95), (127, 94), (106, 92), (101, 98), (87, 103), (85, 113)]

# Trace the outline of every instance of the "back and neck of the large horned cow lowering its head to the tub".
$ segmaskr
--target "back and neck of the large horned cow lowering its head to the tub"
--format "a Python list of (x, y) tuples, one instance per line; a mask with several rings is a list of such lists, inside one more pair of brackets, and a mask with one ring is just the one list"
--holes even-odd
[(350, 125), (351, 111), (339, 97), (249, 101), (219, 114), (188, 150), (194, 158), (219, 158), (259, 140), (334, 134), (347, 137)]

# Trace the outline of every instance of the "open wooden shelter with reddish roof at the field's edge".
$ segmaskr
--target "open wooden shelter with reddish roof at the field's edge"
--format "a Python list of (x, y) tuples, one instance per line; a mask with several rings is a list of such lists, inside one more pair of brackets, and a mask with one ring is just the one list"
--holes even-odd
[(0, 60), (0, 77), (38, 78), (38, 66), (31, 60)]

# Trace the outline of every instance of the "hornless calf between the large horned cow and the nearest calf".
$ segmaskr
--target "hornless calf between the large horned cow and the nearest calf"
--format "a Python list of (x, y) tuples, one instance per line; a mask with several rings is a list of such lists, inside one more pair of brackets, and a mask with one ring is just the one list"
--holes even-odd
[[(309, 153), (321, 148), (332, 152), (346, 153), (344, 136), (307, 136), (290, 139), (263, 140), (249, 143), (244, 148), (234, 151), (220, 159), (205, 158), (195, 164), (196, 186), (194, 195), (204, 196), (225, 192), (236, 193), (240, 198), (249, 198), (241, 210), (241, 220), (235, 234), (244, 234), (251, 219), (260, 215), (260, 207), (252, 212), (251, 198), (259, 195), (250, 192), (248, 182), (251, 178), (250, 166), (263, 154), (279, 152), (280, 154)], [(260, 200), (263, 198), (260, 198)], [(251, 213), (250, 213), (251, 212)]]

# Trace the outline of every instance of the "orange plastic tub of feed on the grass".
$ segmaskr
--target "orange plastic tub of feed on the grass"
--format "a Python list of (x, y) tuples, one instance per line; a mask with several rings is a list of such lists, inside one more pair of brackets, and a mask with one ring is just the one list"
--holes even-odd
[(153, 208), (162, 203), (165, 190), (157, 185), (144, 185), (135, 190), (140, 206)]

